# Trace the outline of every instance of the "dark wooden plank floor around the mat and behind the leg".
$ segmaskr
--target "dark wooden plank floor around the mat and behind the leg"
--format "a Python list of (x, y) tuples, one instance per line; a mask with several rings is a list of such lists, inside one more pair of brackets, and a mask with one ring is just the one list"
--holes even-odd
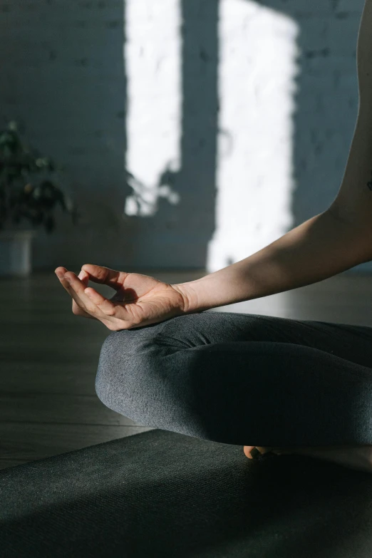
[[(173, 284), (205, 274), (141, 273)], [(100, 346), (110, 331), (72, 314), (53, 271), (0, 278), (0, 304), (0, 469), (151, 430), (96, 396)], [(372, 326), (372, 274), (346, 272), (214, 311)]]

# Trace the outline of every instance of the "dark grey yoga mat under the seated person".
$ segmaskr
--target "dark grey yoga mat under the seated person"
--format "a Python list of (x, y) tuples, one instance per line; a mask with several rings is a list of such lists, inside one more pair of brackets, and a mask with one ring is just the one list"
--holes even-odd
[(1, 558), (371, 558), (372, 474), (165, 430), (0, 470)]

